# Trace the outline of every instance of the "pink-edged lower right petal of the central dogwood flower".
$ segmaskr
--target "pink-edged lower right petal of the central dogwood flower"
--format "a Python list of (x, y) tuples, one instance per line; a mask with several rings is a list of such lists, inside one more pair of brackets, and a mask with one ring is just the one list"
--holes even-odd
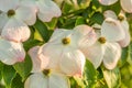
[(61, 70), (68, 76), (82, 76), (85, 56), (78, 50), (64, 51), (59, 62)]

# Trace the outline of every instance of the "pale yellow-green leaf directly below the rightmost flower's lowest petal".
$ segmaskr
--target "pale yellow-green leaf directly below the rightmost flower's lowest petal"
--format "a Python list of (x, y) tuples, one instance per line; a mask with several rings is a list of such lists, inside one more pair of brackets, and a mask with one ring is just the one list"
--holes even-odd
[(121, 76), (119, 68), (108, 70), (102, 68), (103, 77), (109, 88), (119, 88), (121, 85)]

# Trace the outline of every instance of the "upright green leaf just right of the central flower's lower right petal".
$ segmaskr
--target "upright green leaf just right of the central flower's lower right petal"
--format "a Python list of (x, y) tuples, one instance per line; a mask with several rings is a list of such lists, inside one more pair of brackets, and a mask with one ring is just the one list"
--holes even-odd
[(84, 80), (86, 88), (95, 88), (97, 81), (97, 72), (89, 61), (86, 61)]

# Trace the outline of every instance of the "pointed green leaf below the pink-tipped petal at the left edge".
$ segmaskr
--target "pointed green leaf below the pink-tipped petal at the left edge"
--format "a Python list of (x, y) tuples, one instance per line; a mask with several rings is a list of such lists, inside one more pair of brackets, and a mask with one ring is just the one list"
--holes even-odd
[(26, 55), (24, 62), (13, 65), (16, 73), (22, 77), (22, 81), (26, 79), (32, 69), (32, 61), (29, 55)]

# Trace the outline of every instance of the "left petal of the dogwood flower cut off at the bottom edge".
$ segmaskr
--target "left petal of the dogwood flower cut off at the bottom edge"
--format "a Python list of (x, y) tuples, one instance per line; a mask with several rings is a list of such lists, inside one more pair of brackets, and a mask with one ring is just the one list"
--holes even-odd
[(25, 80), (24, 88), (48, 88), (48, 78), (43, 73), (34, 73)]

